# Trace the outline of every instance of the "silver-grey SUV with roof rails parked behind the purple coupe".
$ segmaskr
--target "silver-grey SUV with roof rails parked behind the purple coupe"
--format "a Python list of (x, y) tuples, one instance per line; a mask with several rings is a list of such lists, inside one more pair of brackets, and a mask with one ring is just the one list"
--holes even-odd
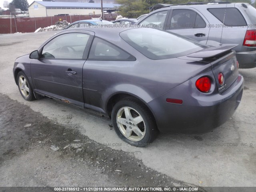
[(188, 3), (151, 12), (136, 24), (187, 36), (203, 44), (238, 44), (240, 68), (256, 67), (256, 9), (248, 3)]

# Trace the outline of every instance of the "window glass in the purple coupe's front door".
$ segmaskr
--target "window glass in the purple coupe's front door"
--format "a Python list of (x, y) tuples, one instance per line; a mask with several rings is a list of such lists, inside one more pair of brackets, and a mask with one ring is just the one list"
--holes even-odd
[(44, 46), (41, 58), (82, 59), (89, 37), (90, 35), (83, 33), (57, 36)]

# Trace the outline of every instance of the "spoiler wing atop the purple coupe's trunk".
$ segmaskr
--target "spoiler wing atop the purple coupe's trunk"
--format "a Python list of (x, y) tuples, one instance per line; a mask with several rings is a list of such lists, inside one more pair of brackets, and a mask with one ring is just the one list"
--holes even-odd
[(229, 51), (236, 46), (238, 46), (238, 44), (223, 44), (218, 47), (209, 47), (204, 50), (188, 54), (187, 57), (209, 58)]

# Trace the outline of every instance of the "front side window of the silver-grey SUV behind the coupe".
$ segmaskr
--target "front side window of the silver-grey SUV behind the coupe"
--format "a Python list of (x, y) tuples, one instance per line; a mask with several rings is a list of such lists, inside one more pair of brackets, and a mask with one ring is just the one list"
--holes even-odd
[(161, 11), (148, 16), (148, 18), (140, 23), (140, 26), (158, 29), (164, 28), (164, 21), (166, 19), (167, 12), (168, 11)]

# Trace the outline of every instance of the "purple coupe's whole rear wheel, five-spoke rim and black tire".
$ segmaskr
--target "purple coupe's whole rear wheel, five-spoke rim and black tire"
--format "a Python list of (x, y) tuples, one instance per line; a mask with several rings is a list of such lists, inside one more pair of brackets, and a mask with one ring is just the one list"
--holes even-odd
[(133, 98), (117, 102), (111, 118), (116, 134), (133, 146), (148, 146), (158, 135), (152, 113), (142, 102)]

